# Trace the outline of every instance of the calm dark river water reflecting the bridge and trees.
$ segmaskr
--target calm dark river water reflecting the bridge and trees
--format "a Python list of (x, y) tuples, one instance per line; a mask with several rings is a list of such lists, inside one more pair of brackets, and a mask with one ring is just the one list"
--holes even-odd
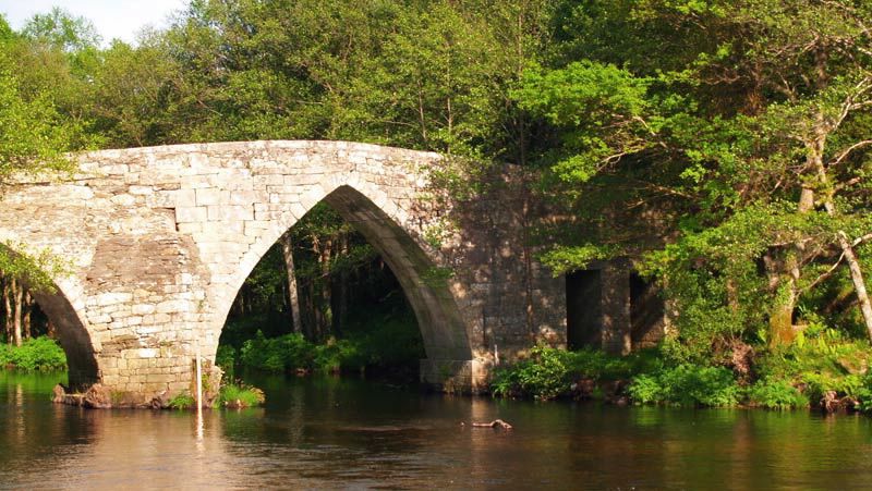
[[(495, 402), (274, 377), (254, 381), (265, 407), (199, 421), (53, 405), (63, 378), (0, 371), (0, 488), (872, 488), (867, 417)], [(469, 426), (495, 418), (514, 429)]]

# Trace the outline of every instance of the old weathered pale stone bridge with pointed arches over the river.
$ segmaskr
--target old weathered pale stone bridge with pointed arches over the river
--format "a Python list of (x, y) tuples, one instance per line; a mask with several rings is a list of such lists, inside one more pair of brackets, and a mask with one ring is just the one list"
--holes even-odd
[[(326, 201), (398, 278), (424, 341), (422, 380), (477, 391), (495, 348), (505, 359), (543, 340), (566, 345), (566, 280), (524, 244), (532, 211), (523, 193), (504, 183), (453, 202), (431, 186), (431, 170), (446, 163), (343, 142), (96, 151), (78, 157), (72, 176), (5, 189), (0, 240), (14, 253), (70, 262), (37, 302), (66, 352), (71, 384), (100, 382), (140, 404), (187, 390), (197, 351), (209, 369), (244, 280)], [(626, 274), (603, 271), (603, 285), (618, 292), (601, 290), (619, 299), (604, 304), (603, 321), (628, 324)], [(622, 342), (620, 329), (617, 341), (605, 329), (603, 343)]]

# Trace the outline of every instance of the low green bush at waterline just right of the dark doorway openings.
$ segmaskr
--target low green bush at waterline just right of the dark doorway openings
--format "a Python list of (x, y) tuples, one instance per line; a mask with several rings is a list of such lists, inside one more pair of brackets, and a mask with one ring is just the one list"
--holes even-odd
[(731, 370), (693, 365), (679, 365), (637, 376), (628, 392), (635, 403), (682, 406), (735, 406), (742, 396)]

